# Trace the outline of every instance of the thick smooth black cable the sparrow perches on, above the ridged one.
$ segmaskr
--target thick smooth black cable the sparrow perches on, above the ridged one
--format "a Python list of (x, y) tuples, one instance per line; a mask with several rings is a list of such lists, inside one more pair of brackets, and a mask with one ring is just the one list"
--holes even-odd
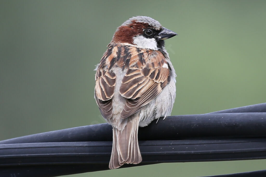
[[(265, 104), (266, 107), (266, 104)], [(208, 136), (265, 136), (266, 113), (221, 113), (169, 116), (139, 128), (139, 140), (184, 139)], [(112, 141), (112, 127), (96, 124), (28, 135), (0, 144)]]

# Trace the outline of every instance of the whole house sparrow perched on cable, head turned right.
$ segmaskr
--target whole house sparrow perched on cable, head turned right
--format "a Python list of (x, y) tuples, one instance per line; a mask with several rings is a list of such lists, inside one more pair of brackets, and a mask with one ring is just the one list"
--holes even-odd
[(138, 127), (171, 114), (176, 74), (164, 40), (176, 35), (150, 17), (132, 17), (117, 28), (96, 65), (95, 99), (113, 126), (110, 169), (140, 163)]

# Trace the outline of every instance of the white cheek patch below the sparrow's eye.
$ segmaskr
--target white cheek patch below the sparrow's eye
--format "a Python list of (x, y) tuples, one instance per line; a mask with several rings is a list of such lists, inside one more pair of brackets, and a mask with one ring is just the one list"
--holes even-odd
[(146, 38), (144, 36), (133, 37), (133, 43), (139, 48), (158, 50), (155, 38)]

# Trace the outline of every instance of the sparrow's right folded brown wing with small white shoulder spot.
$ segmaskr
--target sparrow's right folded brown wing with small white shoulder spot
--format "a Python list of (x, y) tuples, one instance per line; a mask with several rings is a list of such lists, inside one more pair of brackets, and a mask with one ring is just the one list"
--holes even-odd
[(140, 60), (129, 64), (122, 79), (119, 92), (127, 100), (121, 118), (131, 116), (151, 102), (171, 79), (168, 63), (160, 51), (139, 57)]

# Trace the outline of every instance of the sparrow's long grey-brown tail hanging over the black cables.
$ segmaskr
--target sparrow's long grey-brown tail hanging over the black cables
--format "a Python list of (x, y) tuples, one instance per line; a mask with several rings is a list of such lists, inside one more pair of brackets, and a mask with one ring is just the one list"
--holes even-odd
[(138, 118), (128, 120), (123, 131), (113, 127), (113, 148), (109, 163), (110, 169), (117, 169), (124, 163), (138, 164), (142, 161), (139, 151), (138, 129)]

